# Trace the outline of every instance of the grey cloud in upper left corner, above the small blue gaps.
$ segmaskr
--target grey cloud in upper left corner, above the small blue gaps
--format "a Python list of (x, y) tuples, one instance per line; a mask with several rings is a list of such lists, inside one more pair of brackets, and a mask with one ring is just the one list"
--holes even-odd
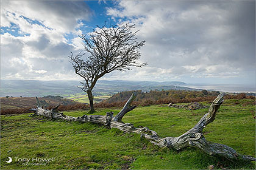
[(10, 12), (18, 17), (25, 16), (39, 21), (44, 26), (61, 32), (74, 31), (78, 19), (88, 20), (92, 14), (84, 1), (3, 1), (1, 5), (5, 25)]

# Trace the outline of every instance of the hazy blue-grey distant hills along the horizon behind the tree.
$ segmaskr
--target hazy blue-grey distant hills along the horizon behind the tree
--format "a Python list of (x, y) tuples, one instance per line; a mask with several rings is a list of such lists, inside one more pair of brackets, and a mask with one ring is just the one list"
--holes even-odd
[[(94, 87), (94, 95), (116, 94), (127, 90), (195, 90), (188, 87), (181, 81), (122, 81), (122, 80), (100, 80)], [(7, 95), (13, 97), (43, 97), (47, 95), (67, 96), (71, 94), (84, 93), (77, 86), (79, 81), (38, 81), (38, 80), (1, 80), (0, 97)]]

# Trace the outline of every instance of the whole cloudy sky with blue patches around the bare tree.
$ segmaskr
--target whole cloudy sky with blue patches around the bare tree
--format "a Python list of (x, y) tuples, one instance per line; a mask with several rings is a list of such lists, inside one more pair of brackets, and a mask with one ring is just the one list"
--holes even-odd
[(255, 86), (255, 1), (1, 1), (1, 79), (82, 80), (68, 56), (104, 22), (135, 24), (148, 66), (101, 80)]

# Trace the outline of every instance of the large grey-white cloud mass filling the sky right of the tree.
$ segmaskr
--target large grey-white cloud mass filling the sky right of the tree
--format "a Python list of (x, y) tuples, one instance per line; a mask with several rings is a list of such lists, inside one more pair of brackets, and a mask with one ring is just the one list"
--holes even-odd
[(141, 61), (156, 73), (229, 78), (255, 70), (255, 2), (119, 1), (107, 13), (137, 25), (146, 40)]

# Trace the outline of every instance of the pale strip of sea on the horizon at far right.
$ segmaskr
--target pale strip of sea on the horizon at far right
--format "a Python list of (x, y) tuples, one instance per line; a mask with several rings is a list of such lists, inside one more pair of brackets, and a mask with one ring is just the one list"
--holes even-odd
[(230, 93), (256, 93), (255, 85), (240, 85), (240, 84), (185, 84), (182, 87), (190, 87), (194, 89), (205, 89), (205, 90), (215, 90), (220, 92), (230, 92)]

